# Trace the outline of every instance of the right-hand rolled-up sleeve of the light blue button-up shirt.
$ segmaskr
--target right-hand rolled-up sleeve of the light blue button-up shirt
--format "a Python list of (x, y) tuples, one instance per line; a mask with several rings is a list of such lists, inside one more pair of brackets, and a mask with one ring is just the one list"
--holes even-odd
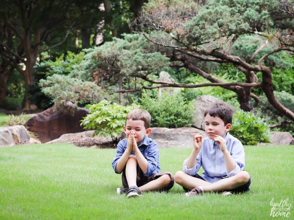
[(235, 145), (233, 145), (233, 148), (231, 150), (231, 156), (235, 160), (235, 168), (227, 172), (228, 177), (232, 177), (236, 175), (241, 170), (244, 170), (245, 167), (245, 152), (243, 145), (240, 141), (238, 141)]

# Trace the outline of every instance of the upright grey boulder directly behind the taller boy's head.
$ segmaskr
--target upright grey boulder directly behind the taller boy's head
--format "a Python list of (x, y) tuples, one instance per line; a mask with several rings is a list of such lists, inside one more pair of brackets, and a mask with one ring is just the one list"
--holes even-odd
[(195, 123), (193, 127), (205, 130), (204, 112), (210, 104), (216, 101), (218, 101), (218, 99), (210, 95), (202, 95), (195, 99)]

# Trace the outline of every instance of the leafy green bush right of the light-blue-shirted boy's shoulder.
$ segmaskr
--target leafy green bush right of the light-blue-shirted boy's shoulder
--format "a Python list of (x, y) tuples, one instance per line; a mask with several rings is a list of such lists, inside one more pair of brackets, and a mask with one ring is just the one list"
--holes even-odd
[(264, 119), (243, 110), (237, 110), (234, 114), (230, 134), (238, 138), (244, 145), (270, 142), (270, 128)]

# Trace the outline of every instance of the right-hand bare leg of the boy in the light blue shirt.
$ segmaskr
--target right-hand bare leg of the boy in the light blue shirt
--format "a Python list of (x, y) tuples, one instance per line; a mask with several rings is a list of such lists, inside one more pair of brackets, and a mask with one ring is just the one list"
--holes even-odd
[(210, 185), (199, 185), (203, 188), (204, 192), (219, 192), (223, 190), (235, 189), (239, 186), (246, 184), (250, 179), (250, 175), (246, 171), (240, 171), (232, 177), (228, 177)]

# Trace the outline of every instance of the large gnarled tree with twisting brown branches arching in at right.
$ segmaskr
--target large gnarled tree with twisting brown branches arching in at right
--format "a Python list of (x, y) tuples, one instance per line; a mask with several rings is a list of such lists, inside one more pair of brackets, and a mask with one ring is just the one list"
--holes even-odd
[[(241, 109), (253, 111), (250, 97), (254, 87), (261, 87), (270, 104), (277, 111), (294, 120), (294, 113), (275, 98), (271, 66), (265, 65), (270, 55), (278, 56), (281, 51), (294, 52), (293, 1), (207, 1), (200, 5), (193, 1), (149, 1), (137, 20), (144, 27), (142, 34), (151, 42), (170, 48), (172, 67), (185, 67), (208, 79), (210, 86), (221, 86), (237, 93)], [(147, 31), (147, 32), (146, 32)], [(150, 35), (156, 31), (157, 35)], [(160, 33), (166, 33), (164, 38)], [(248, 60), (234, 54), (233, 46), (248, 35), (259, 35), (264, 43), (258, 45)], [(157, 37), (161, 36), (161, 37)], [(262, 53), (267, 44), (275, 48)], [(257, 59), (257, 55), (262, 56)], [(201, 68), (200, 62), (232, 63), (246, 76), (246, 82), (226, 83)], [(256, 75), (262, 72), (262, 79)], [(166, 84), (149, 80), (149, 82)], [(187, 86), (170, 84), (170, 86)], [(203, 85), (202, 85), (203, 86)], [(208, 86), (208, 85), (205, 85)], [(192, 86), (193, 87), (193, 86)]]

